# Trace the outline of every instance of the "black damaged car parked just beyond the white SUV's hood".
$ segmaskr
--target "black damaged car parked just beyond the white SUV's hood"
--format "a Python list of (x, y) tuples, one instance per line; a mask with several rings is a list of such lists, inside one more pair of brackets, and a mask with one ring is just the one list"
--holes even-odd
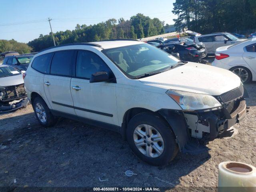
[(178, 53), (180, 60), (199, 62), (207, 55), (207, 50), (202, 44), (196, 44), (190, 41), (169, 41), (166, 44), (158, 46), (158, 48), (168, 52), (169, 54)]

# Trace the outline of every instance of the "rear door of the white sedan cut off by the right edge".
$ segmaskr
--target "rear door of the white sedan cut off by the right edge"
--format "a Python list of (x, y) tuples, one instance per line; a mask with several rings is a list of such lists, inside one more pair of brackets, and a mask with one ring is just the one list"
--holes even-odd
[(256, 44), (248, 45), (244, 49), (245, 53), (243, 54), (243, 58), (256, 73)]

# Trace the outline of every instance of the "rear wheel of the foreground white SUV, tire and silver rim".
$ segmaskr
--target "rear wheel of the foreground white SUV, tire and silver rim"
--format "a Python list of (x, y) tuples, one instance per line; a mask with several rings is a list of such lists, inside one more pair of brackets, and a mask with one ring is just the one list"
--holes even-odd
[[(41, 106), (41, 111), (37, 112), (37, 110), (40, 109), (40, 106)], [(34, 99), (33, 109), (34, 109), (37, 120), (42, 126), (50, 127), (56, 124), (57, 119), (54, 118), (54, 116), (50, 112), (50, 109), (48, 108), (47, 104), (44, 102), (42, 98), (36, 97)]]

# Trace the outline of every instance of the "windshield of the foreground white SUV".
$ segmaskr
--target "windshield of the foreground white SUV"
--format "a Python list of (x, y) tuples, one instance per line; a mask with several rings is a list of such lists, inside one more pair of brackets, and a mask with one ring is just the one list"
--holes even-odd
[(128, 77), (161, 72), (174, 66), (178, 59), (148, 44), (136, 44), (102, 50), (102, 52)]

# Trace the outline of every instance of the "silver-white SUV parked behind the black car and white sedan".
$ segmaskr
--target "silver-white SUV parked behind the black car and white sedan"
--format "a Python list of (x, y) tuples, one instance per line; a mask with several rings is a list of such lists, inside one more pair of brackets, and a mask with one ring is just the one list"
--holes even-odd
[(195, 36), (194, 42), (203, 42), (208, 54), (215, 54), (217, 48), (237, 44), (246, 39), (238, 39), (236, 36), (224, 33), (212, 33), (207, 35)]

